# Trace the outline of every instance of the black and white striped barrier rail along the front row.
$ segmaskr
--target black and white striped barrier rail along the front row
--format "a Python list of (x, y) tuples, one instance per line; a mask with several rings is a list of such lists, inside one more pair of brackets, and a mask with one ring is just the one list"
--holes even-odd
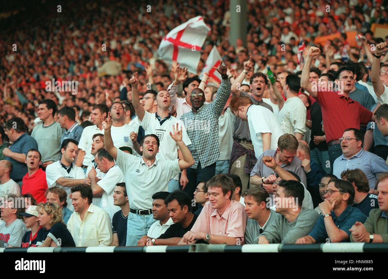
[(145, 247), (61, 247), (61, 248), (0, 248), (0, 253), (144, 253), (144, 252), (387, 252), (388, 243), (324, 243), (324, 244), (245, 244), (242, 246), (224, 244), (193, 244), (182, 246), (145, 246)]

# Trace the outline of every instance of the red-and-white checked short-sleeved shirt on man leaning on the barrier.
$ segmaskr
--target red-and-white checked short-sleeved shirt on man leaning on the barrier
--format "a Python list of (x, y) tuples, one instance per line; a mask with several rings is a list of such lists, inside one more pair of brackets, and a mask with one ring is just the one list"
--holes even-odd
[(237, 201), (230, 201), (225, 212), (220, 216), (217, 209), (213, 209), (210, 201), (206, 202), (197, 221), (191, 228), (192, 232), (239, 237), (244, 243), (246, 226), (244, 206)]

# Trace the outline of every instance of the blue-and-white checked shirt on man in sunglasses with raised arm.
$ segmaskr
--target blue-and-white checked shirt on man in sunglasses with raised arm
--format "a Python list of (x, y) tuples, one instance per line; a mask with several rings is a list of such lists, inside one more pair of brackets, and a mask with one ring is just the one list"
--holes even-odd
[(195, 160), (194, 165), (191, 166), (193, 169), (196, 169), (199, 163), (202, 169), (210, 166), (220, 157), (218, 117), (230, 96), (230, 87), (229, 78), (222, 79), (212, 103), (203, 105), (197, 113), (191, 110), (180, 117), (191, 139), (191, 145), (187, 147)]

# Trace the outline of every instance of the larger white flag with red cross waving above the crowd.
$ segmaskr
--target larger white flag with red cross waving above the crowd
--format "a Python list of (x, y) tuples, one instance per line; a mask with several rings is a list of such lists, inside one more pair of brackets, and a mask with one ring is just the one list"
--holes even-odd
[(163, 38), (158, 49), (159, 57), (170, 63), (177, 61), (181, 67), (197, 74), (202, 45), (209, 31), (202, 16), (189, 19)]

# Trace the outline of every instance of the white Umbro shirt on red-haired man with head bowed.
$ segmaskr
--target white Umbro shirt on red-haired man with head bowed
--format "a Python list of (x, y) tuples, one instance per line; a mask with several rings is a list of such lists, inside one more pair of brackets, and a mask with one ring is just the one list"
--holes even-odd
[(273, 112), (263, 106), (251, 105), (247, 112), (249, 132), (255, 155), (258, 159), (263, 153), (263, 140), (261, 133), (271, 133), (270, 149), (277, 148), (277, 140), (284, 134), (279, 120), (276, 119)]

